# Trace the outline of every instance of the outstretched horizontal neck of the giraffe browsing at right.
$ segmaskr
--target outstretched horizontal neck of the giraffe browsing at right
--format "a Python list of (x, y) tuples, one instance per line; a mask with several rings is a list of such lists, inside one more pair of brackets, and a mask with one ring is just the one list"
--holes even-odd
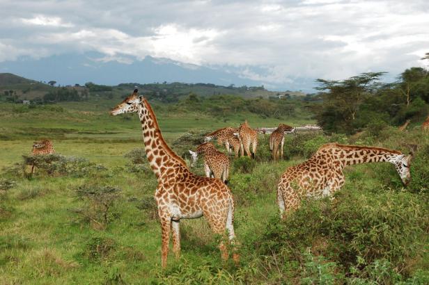
[(338, 145), (335, 156), (343, 167), (359, 163), (389, 162), (395, 164), (403, 157), (398, 151), (381, 147), (359, 147)]

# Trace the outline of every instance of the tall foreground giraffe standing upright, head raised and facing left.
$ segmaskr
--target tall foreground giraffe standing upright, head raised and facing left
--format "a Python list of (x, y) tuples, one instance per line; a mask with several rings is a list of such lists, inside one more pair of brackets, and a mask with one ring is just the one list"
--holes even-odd
[[(152, 106), (137, 94), (125, 98), (111, 109), (111, 115), (138, 113), (143, 142), (150, 168), (157, 177), (155, 201), (162, 229), (161, 264), (165, 268), (169, 252), (170, 231), (173, 252), (180, 256), (180, 220), (205, 216), (215, 234), (228, 236), (234, 245), (234, 200), (231, 190), (219, 179), (200, 177), (190, 172), (180, 156), (174, 153), (162, 137)], [(219, 244), (222, 259), (228, 259), (226, 245)], [(237, 262), (236, 252), (233, 259)]]

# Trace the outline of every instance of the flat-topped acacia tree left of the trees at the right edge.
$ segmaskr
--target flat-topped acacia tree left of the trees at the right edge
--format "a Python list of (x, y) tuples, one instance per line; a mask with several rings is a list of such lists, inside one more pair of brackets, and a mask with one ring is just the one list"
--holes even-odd
[(380, 77), (386, 72), (366, 72), (342, 81), (318, 79), (323, 103), (316, 117), (325, 131), (352, 132), (359, 107), (380, 87)]

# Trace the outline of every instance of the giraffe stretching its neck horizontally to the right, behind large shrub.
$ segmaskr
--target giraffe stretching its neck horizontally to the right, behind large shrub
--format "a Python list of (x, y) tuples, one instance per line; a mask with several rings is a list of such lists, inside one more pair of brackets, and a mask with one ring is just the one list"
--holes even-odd
[(323, 197), (339, 190), (345, 180), (343, 169), (357, 163), (387, 161), (395, 165), (403, 184), (410, 179), (409, 164), (412, 159), (396, 150), (381, 147), (339, 145), (332, 142), (322, 145), (307, 161), (286, 169), (277, 186), (277, 202), (284, 211), (297, 209), (302, 197)]

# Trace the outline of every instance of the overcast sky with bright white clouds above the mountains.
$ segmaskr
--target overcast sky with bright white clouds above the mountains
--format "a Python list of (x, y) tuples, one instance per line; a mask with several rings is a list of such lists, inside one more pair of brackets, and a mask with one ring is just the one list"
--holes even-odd
[(207, 67), (275, 86), (369, 71), (392, 78), (429, 52), (429, 1), (0, 0), (0, 65), (97, 51)]

